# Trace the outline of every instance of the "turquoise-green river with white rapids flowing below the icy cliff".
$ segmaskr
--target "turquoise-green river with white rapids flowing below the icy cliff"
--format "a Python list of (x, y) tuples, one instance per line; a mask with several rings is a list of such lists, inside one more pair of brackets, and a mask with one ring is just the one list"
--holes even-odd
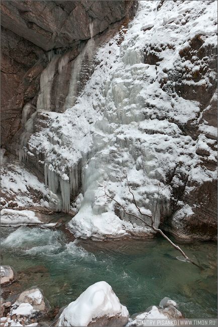
[[(26, 272), (19, 292), (37, 285), (52, 308), (68, 304), (89, 285), (104, 280), (130, 314), (145, 311), (169, 296), (178, 302), (185, 317), (217, 316), (215, 243), (181, 245), (201, 270), (177, 260), (178, 252), (161, 237), (70, 242), (61, 230), (2, 227), (1, 239), (2, 264)], [(45, 271), (40, 272), (38, 266)]]

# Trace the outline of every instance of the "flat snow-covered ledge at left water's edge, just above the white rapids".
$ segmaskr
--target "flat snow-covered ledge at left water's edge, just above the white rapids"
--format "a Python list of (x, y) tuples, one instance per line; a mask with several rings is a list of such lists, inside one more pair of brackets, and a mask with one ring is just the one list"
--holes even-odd
[(2, 226), (22, 226), (22, 225), (36, 225), (42, 224), (37, 218), (34, 211), (31, 210), (1, 210), (1, 225)]

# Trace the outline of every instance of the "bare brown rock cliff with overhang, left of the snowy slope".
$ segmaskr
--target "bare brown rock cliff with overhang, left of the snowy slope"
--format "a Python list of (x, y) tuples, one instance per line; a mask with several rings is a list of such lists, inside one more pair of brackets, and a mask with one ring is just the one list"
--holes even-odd
[[(72, 61), (91, 37), (108, 32), (135, 14), (135, 1), (4, 1), (1, 3), (1, 145), (16, 153), (22, 110), (37, 108), (40, 76), (54, 56), (49, 88), (41, 85), (38, 109), (62, 112)], [(105, 37), (105, 40), (108, 38)], [(104, 37), (101, 37), (101, 42)], [(58, 85), (58, 86), (57, 86)], [(49, 99), (48, 99), (49, 98)], [(48, 108), (49, 106), (49, 108)], [(31, 108), (30, 108), (31, 107)], [(27, 113), (28, 111), (28, 113)], [(24, 120), (23, 120), (24, 121)], [(18, 133), (18, 134), (16, 134)], [(16, 135), (16, 136), (15, 136)]]

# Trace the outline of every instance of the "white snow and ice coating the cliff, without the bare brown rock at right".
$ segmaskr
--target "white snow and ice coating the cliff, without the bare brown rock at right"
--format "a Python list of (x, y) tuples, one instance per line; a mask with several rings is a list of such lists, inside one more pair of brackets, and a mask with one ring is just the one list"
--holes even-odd
[[(116, 36), (97, 51), (99, 65), (76, 104), (63, 114), (49, 113), (49, 128), (29, 140), (30, 151), (45, 154), (45, 180), (52, 192), (60, 191), (64, 210), (69, 209), (70, 195), (80, 192), (81, 182), (84, 199), (70, 223), (77, 236), (121, 235), (128, 228), (134, 231), (134, 224), (148, 232), (110, 199), (99, 198), (106, 185), (108, 193), (134, 213), (126, 175), (146, 214), (154, 214), (158, 201), (157, 226), (161, 215), (172, 213), (167, 181), (176, 169), (197, 183), (215, 178), (214, 172), (199, 166), (195, 151), (203, 141), (183, 133), (187, 124), (199, 119), (199, 103), (175, 92), (173, 75), (176, 69), (198, 69), (199, 63), (193, 65), (179, 55), (190, 39), (200, 34), (205, 44), (214, 44), (215, 2), (164, 2), (159, 10), (157, 6), (139, 3), (123, 42)], [(148, 60), (152, 47), (160, 53), (158, 65), (155, 57)], [(161, 87), (165, 79), (171, 91)], [(207, 77), (197, 83), (204, 82)], [(74, 87), (71, 91), (73, 96)], [(201, 131), (206, 133), (203, 125)], [(215, 158), (215, 152), (207, 150)], [(179, 185), (181, 180), (175, 176), (172, 182)]]

